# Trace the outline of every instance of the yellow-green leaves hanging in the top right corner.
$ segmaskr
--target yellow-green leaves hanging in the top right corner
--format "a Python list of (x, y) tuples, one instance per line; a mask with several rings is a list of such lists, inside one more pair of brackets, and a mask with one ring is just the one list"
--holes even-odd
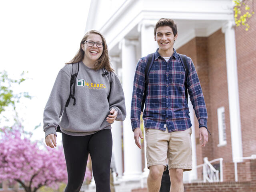
[[(250, 6), (246, 4), (248, 0), (233, 0), (235, 6), (234, 6), (234, 18), (235, 18), (235, 23), (236, 26), (240, 26), (241, 24), (246, 26), (246, 31), (249, 30), (249, 24), (247, 23), (248, 18), (250, 18), (254, 14), (254, 10), (250, 12)], [(245, 14), (242, 14), (241, 12), (241, 6), (245, 6)]]

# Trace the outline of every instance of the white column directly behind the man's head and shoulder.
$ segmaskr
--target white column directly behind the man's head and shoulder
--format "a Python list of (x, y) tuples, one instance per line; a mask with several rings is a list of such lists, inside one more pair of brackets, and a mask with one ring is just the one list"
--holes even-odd
[[(154, 40), (154, 24), (142, 22), (138, 25), (138, 31), (140, 32), (140, 40), (141, 40), (141, 56), (144, 57), (150, 53), (156, 52), (158, 45)], [(144, 160), (145, 160), (143, 174), (148, 175), (149, 170), (147, 168), (147, 159), (146, 159), (145, 129), (143, 133), (144, 133)]]

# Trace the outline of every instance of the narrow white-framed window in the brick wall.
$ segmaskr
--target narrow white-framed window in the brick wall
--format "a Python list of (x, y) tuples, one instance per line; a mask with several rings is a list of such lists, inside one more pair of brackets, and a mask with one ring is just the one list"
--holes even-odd
[(224, 146), (227, 144), (226, 124), (225, 124), (225, 108), (224, 107), (218, 108), (217, 115), (218, 115), (218, 130), (219, 130), (218, 147), (220, 147), (220, 146)]

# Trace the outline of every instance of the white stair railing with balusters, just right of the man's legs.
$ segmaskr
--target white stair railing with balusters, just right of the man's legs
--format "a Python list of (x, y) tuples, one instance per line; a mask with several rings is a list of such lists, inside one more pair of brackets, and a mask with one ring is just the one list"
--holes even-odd
[[(220, 179), (219, 179), (219, 170), (216, 170), (211, 163), (220, 161)], [(196, 166), (196, 168), (203, 167), (203, 178), (204, 182), (223, 182), (223, 158), (214, 159), (208, 161), (208, 158), (204, 158), (204, 164)]]

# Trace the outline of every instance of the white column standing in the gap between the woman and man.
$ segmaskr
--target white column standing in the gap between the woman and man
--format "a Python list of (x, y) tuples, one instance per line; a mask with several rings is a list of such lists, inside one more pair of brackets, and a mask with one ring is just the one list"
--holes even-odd
[(141, 151), (136, 146), (130, 122), (133, 78), (136, 68), (135, 46), (138, 42), (122, 40), (122, 86), (126, 104), (126, 119), (123, 122), (124, 180), (139, 180), (142, 172)]

